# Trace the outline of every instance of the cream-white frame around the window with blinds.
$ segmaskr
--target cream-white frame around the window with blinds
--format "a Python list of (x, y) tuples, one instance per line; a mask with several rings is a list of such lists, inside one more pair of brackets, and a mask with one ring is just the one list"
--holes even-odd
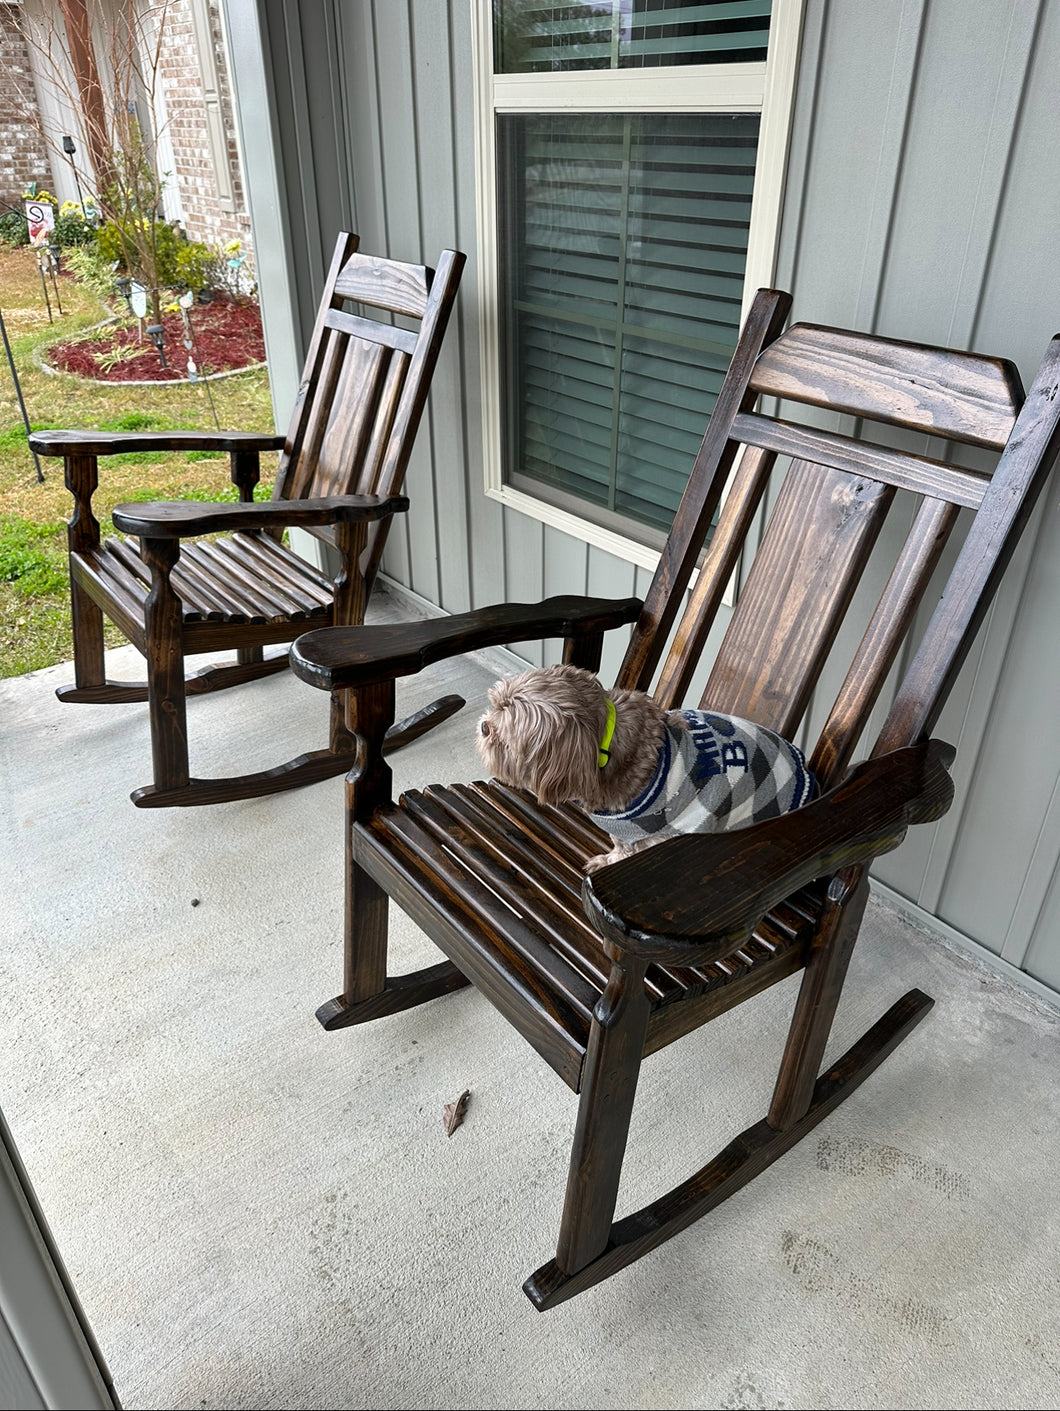
[[(773, 282), (805, 0), (773, 0), (765, 63), (703, 63), (562, 73), (493, 72), (493, 0), (471, 0), (476, 87), (476, 222), (486, 494), (532, 519), (654, 571), (638, 539), (504, 483), (495, 119), (504, 113), (759, 113), (741, 323)], [(631, 521), (631, 528), (634, 522)]]

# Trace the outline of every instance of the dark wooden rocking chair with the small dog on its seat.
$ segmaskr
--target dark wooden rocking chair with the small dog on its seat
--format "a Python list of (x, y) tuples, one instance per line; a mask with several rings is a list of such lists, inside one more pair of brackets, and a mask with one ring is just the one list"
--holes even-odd
[[(754, 302), (644, 605), (555, 598), (415, 626), (311, 632), (292, 648), (298, 676), (349, 693), (360, 739), (347, 780), (346, 982), (318, 1017), (337, 1029), (473, 982), (580, 1092), (556, 1256), (524, 1285), (539, 1309), (740, 1189), (850, 1096), (933, 1003), (910, 991), (820, 1072), (868, 865), (953, 797), (954, 752), (929, 737), (1060, 446), (1060, 339), (1023, 401), (1005, 361), (809, 325), (782, 333), (789, 302), (776, 291)], [(759, 394), (1001, 457), (991, 477), (797, 426), (757, 413)], [(790, 468), (759, 539), (757, 508), (778, 454)], [(583, 865), (608, 840), (574, 807), (541, 807), (493, 782), (392, 801), (381, 745), (397, 676), (542, 636), (563, 636), (567, 660), (597, 669), (604, 629), (635, 619), (618, 684), (654, 683), (665, 707), (680, 704), (741, 546), (749, 555), (755, 542), (703, 704), (790, 737), (899, 488), (922, 497), (919, 509), (813, 749), (824, 790), (816, 801), (738, 832), (663, 842), (590, 879)], [(850, 768), (960, 507), (974, 519), (948, 586), (869, 758)], [(388, 896), (447, 959), (387, 975)], [(615, 1221), (641, 1060), (797, 969), (768, 1113), (682, 1185)]]

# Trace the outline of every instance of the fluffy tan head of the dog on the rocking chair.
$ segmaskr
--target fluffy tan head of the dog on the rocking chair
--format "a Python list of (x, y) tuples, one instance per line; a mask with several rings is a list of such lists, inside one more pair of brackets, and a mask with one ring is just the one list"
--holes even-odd
[(542, 803), (591, 799), (604, 691), (591, 672), (546, 666), (498, 682), (478, 721), (478, 755), (501, 783), (532, 790)]

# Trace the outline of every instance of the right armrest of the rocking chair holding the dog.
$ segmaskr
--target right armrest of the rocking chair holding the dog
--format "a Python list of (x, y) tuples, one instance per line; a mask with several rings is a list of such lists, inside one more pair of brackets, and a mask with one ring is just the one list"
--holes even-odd
[(896, 848), (953, 801), (954, 748), (920, 741), (868, 759), (795, 813), (686, 834), (586, 878), (586, 914), (617, 950), (670, 965), (724, 959), (771, 907), (816, 878)]

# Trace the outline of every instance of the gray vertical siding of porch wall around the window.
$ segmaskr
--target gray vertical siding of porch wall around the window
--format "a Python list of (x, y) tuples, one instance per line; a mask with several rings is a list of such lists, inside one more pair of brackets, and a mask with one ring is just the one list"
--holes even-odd
[[(414, 508), (384, 571), (447, 611), (549, 593), (642, 594), (642, 570), (483, 492), (470, 4), (229, 0), (229, 10), (257, 11), (267, 37), (302, 316), (322, 251), (347, 220), (366, 250), (469, 254), (409, 470)], [(1057, 72), (1056, 0), (806, 0), (776, 274), (796, 313), (1001, 353), (1029, 381), (1060, 326)], [(850, 429), (848, 419), (830, 425)], [(958, 745), (957, 803), (877, 868), (912, 904), (1054, 989), (1057, 498), (1053, 484), (939, 728)], [(868, 611), (868, 588), (855, 607)], [(855, 611), (837, 653), (857, 632)], [(542, 663), (558, 649), (521, 650)], [(610, 642), (606, 672), (620, 653)], [(807, 734), (838, 680), (838, 667), (826, 676)]]

